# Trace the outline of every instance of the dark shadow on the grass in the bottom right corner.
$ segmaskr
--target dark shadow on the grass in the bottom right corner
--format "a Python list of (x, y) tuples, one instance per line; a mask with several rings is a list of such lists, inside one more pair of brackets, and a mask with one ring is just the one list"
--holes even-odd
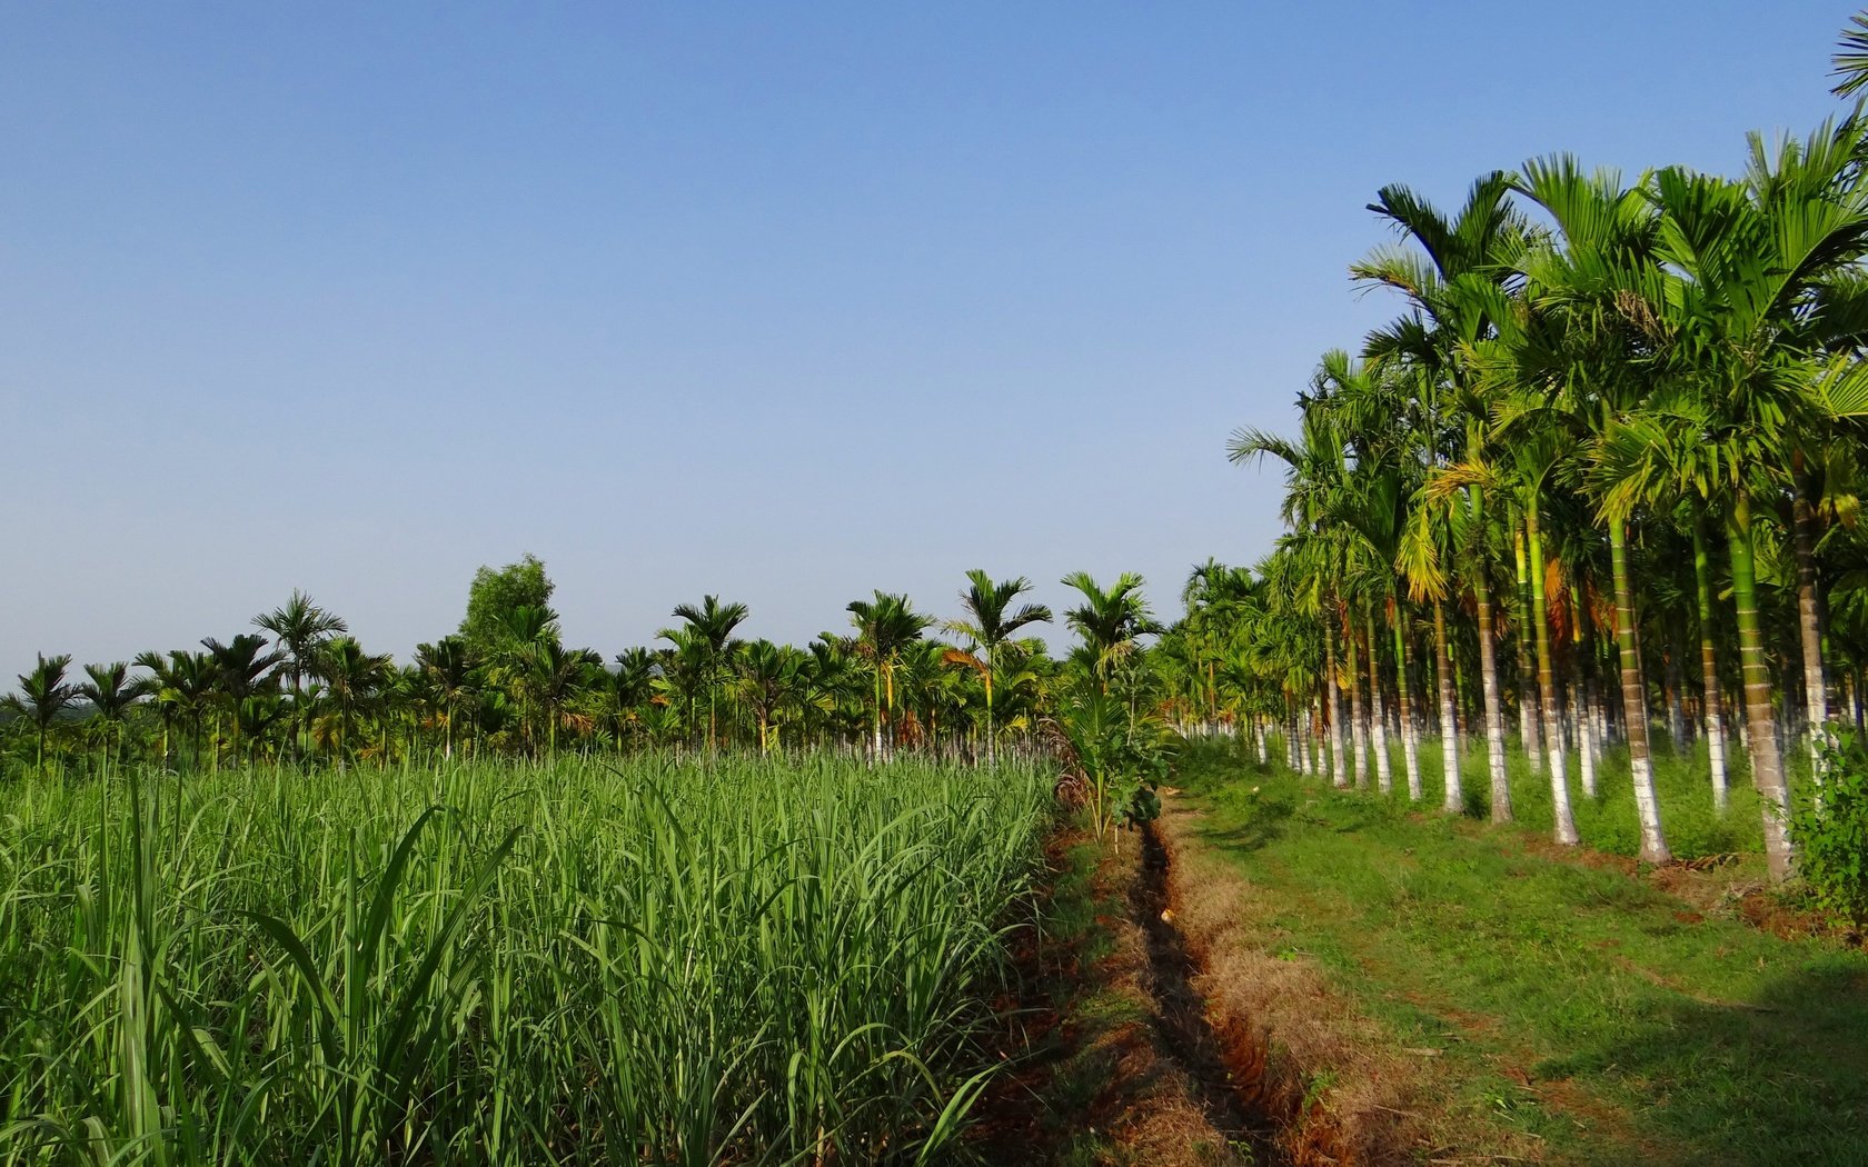
[(1640, 1124), (1681, 1163), (1868, 1163), (1868, 971), (1833, 954), (1748, 1001), (1674, 1001), (1537, 1076), (1655, 1098)]

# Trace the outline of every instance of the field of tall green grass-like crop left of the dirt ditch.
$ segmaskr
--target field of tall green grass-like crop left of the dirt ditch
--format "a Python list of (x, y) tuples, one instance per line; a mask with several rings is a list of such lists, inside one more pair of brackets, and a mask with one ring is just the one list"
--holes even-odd
[(925, 1161), (1046, 795), (841, 758), (13, 788), (0, 1163)]

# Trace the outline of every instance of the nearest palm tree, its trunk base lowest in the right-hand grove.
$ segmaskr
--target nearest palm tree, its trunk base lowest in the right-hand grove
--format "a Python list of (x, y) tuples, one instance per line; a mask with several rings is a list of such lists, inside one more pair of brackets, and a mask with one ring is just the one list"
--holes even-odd
[(1810, 336), (1823, 282), (1868, 245), (1868, 189), (1853, 181), (1864, 146), (1864, 127), (1846, 121), (1775, 153), (1754, 134), (1745, 183), (1661, 170), (1651, 194), (1663, 215), (1661, 267), (1631, 289), (1661, 375), (1631, 433), (1664, 433), (1666, 444), (1691, 450), (1694, 485), (1726, 515), (1752, 782), (1773, 879), (1791, 874), (1795, 855), (1758, 620), (1752, 499), (1784, 485), (1788, 424), (1812, 409), (1834, 416), (1868, 407), (1812, 392), (1823, 355)]

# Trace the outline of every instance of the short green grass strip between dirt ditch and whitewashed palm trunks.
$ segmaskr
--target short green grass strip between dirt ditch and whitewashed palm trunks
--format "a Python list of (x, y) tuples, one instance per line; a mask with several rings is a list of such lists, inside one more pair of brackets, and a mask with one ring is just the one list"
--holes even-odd
[[(1668, 808), (1679, 771), (1663, 767)], [(1631, 799), (1603, 779), (1584, 838), (1631, 840)], [(1222, 747), (1190, 752), (1177, 780), (1207, 810), (1205, 842), (1280, 906), (1253, 921), (1259, 943), (1319, 962), (1397, 1046), (1444, 1049), (1455, 1111), (1539, 1135), (1560, 1161), (1868, 1161), (1868, 956), (1698, 921), (1642, 879), (1534, 857), (1515, 829)], [(1674, 823), (1730, 850), (1717, 822)]]

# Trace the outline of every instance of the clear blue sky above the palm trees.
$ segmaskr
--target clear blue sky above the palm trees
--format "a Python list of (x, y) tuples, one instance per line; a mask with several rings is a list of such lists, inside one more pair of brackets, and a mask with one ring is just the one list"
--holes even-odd
[[(1735, 170), (1847, 4), (0, 7), (0, 676), (366, 646), (545, 560), (570, 642), (805, 640), (966, 568), (1252, 562), (1405, 181)], [(6, 687), (6, 685), (0, 685)]]

